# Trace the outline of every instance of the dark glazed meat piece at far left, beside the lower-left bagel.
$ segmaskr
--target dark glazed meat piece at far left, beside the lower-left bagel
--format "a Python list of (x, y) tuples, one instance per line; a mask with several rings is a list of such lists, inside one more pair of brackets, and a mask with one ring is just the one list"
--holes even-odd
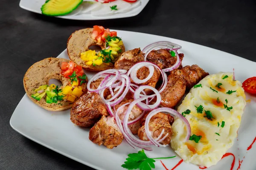
[(81, 96), (71, 108), (70, 120), (81, 127), (93, 126), (108, 110), (99, 94), (87, 93)]

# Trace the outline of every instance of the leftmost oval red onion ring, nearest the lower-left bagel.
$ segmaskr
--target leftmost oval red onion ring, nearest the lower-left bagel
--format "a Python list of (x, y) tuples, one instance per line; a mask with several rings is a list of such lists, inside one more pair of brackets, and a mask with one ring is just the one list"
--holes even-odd
[[(111, 74), (111, 73), (115, 73), (116, 75), (115, 75), (115, 77), (113, 77), (111, 80), (109, 80), (106, 85), (104, 85), (104, 86), (102, 86), (102, 87), (100, 87), (100, 88), (97, 88), (97, 89), (92, 89), (92, 88), (90, 88), (91, 82), (95, 81), (96, 79), (99, 79), (98, 77), (99, 77), (100, 75), (102, 75), (102, 74)], [(95, 75), (88, 81), (88, 83), (87, 83), (87, 89), (88, 89), (88, 91), (90, 91), (90, 92), (99, 92), (99, 91), (101, 91), (101, 90), (107, 88), (108, 86), (112, 85), (112, 84), (120, 77), (120, 75), (121, 75), (120, 72), (119, 72), (118, 70), (116, 70), (116, 69), (108, 69), (108, 70), (105, 70), (105, 71), (100, 71), (99, 73), (95, 74)], [(106, 81), (106, 80), (105, 80), (105, 81)], [(102, 83), (104, 83), (103, 80), (102, 80)]]

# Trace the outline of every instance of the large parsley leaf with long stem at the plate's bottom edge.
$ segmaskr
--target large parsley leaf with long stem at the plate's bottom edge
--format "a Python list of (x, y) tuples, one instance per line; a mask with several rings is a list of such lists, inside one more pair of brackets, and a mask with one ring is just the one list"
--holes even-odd
[(121, 166), (128, 170), (132, 170), (132, 169), (151, 170), (151, 168), (155, 168), (154, 159), (170, 159), (175, 157), (176, 156), (164, 157), (164, 158), (148, 158), (144, 150), (140, 150), (138, 153), (128, 154), (128, 158), (126, 158), (125, 164), (122, 164)]

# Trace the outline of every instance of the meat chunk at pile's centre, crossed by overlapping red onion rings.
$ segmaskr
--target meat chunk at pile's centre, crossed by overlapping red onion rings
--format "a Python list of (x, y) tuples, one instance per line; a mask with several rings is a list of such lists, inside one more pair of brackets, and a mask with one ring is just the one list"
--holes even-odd
[[(134, 101), (134, 99), (123, 100), (122, 102), (120, 102), (118, 105), (115, 105), (114, 107), (115, 107), (115, 109), (116, 109), (116, 111), (117, 111), (117, 109), (118, 109), (120, 106), (124, 105), (125, 103), (133, 102), (133, 101)], [(126, 113), (128, 107), (129, 107), (129, 105), (126, 105), (126, 106), (124, 106), (124, 107), (118, 112), (119, 118), (120, 118), (121, 120), (124, 119), (124, 116), (125, 116), (125, 113)], [(131, 120), (136, 119), (138, 116), (140, 116), (140, 115), (142, 114), (142, 112), (143, 112), (143, 110), (141, 110), (137, 105), (134, 105), (134, 107), (133, 107), (132, 110), (131, 110), (131, 113), (130, 113), (130, 116), (129, 116), (128, 121), (131, 121)], [(133, 124), (131, 124), (131, 125), (128, 125), (128, 127), (129, 127), (129, 129), (131, 130), (131, 132), (132, 132), (133, 134), (137, 134), (139, 128), (141, 127), (140, 121), (135, 122), (135, 123), (133, 123)]]

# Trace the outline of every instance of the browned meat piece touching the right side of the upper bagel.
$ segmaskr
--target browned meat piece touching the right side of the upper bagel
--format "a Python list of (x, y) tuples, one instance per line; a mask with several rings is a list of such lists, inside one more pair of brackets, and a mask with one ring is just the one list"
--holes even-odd
[(144, 54), (140, 48), (125, 51), (115, 62), (116, 69), (129, 70), (137, 62), (144, 61)]

